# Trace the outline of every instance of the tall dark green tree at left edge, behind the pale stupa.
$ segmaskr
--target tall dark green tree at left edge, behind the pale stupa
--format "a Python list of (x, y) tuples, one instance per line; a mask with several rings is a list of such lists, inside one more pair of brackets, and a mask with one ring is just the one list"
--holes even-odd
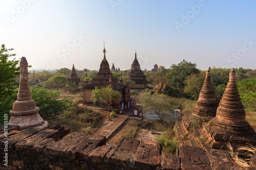
[[(16, 79), (19, 77), (19, 60), (14, 57), (16, 54), (9, 54), (13, 48), (7, 49), (5, 44), (0, 50), (0, 122), (3, 123), (3, 116), (12, 109), (12, 104), (17, 99), (15, 89), (18, 88)], [(9, 58), (12, 58), (11, 60)]]

